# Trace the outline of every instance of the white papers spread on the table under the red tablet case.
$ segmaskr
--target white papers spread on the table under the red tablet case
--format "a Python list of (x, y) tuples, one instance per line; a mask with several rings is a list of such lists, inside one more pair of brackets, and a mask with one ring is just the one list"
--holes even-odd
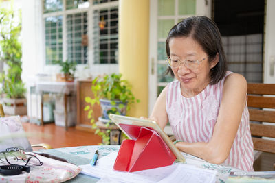
[[(83, 170), (80, 173), (96, 178), (102, 178), (101, 182), (214, 182), (216, 171), (199, 169), (188, 164), (173, 164), (156, 169), (135, 171), (132, 173), (115, 171), (113, 164), (118, 152), (99, 159), (96, 166), (91, 164), (81, 165)], [(111, 182), (109, 180), (112, 180)]]

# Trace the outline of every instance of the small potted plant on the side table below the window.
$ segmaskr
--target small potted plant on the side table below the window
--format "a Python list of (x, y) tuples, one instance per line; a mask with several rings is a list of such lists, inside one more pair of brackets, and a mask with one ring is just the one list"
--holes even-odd
[(76, 71), (76, 62), (63, 62), (61, 60), (53, 61), (54, 64), (59, 64), (61, 66), (61, 73), (56, 75), (56, 80), (58, 82), (73, 82), (74, 72)]

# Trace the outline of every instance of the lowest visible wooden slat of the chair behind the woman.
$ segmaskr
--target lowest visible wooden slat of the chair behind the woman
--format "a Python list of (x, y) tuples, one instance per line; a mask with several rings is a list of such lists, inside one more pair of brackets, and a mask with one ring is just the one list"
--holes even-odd
[(254, 149), (258, 151), (275, 153), (275, 141), (252, 137)]

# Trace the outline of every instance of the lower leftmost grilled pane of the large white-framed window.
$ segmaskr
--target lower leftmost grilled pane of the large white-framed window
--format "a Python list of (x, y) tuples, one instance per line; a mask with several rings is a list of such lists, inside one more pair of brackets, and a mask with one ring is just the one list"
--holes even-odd
[[(46, 64), (62, 58), (62, 16), (45, 18)], [(54, 25), (54, 26), (52, 26)], [(61, 32), (59, 30), (61, 29)]]

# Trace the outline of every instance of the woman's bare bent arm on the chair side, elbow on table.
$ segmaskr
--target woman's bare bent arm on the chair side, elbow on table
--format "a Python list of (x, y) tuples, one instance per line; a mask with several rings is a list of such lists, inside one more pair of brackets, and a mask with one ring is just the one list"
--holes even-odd
[(210, 141), (208, 143), (177, 143), (176, 147), (214, 164), (224, 162), (228, 158), (241, 123), (247, 89), (245, 77), (236, 73), (228, 75), (223, 85), (219, 115)]

